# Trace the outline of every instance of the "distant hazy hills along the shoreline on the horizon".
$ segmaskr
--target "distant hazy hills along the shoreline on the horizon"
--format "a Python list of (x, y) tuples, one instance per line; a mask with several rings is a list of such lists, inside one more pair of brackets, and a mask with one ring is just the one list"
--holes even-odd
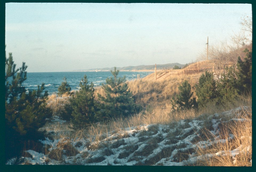
[[(157, 70), (163, 70), (163, 69), (172, 69), (175, 65), (179, 67), (183, 67), (185, 65), (179, 64), (179, 63), (168, 63), (164, 65), (157, 65)], [(94, 69), (83, 69), (83, 70), (74, 70), (75, 72), (93, 72), (93, 71), (111, 71), (114, 67), (109, 68), (94, 68)], [(119, 71), (154, 71), (155, 65), (139, 65), (139, 66), (126, 66), (126, 67), (117, 67)]]

